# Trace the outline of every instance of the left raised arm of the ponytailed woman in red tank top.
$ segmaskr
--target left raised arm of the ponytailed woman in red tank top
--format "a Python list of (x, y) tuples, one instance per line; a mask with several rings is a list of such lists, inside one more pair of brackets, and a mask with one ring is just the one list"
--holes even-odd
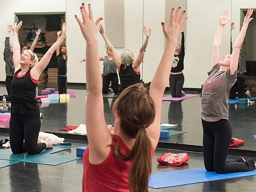
[(102, 18), (93, 22), (91, 5), (88, 11), (82, 4), (82, 21), (76, 16), (82, 34), (86, 40), (86, 129), (90, 145), (90, 162), (102, 162), (110, 152), (111, 133), (104, 118), (102, 78), (100, 72), (97, 31)]

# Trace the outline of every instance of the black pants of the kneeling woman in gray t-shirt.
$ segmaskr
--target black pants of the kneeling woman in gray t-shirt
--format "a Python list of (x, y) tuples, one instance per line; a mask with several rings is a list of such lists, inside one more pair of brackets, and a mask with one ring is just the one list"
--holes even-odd
[(216, 171), (217, 174), (226, 174), (255, 169), (253, 159), (243, 162), (242, 158), (226, 162), (229, 145), (232, 138), (232, 128), (227, 119), (207, 122), (202, 119), (203, 125), (203, 160), (207, 171)]

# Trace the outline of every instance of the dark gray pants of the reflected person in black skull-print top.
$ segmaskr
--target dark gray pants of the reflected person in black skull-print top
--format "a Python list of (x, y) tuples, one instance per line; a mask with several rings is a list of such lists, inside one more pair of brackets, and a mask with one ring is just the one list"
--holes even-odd
[(182, 97), (182, 88), (184, 84), (184, 75), (172, 75), (169, 76), (169, 87), (172, 97)]

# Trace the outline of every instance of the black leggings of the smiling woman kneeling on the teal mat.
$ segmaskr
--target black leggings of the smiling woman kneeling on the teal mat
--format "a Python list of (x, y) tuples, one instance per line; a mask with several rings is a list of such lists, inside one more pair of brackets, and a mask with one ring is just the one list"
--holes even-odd
[(10, 119), (11, 151), (16, 154), (27, 152), (29, 155), (34, 155), (46, 149), (45, 143), (37, 143), (40, 126), (39, 113), (12, 113)]

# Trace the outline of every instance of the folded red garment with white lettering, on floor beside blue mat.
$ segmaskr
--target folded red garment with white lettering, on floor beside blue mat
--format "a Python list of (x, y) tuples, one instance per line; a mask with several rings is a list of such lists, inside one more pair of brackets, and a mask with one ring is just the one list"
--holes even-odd
[(159, 156), (156, 161), (159, 164), (179, 166), (185, 164), (189, 160), (187, 153), (165, 153), (163, 156)]

